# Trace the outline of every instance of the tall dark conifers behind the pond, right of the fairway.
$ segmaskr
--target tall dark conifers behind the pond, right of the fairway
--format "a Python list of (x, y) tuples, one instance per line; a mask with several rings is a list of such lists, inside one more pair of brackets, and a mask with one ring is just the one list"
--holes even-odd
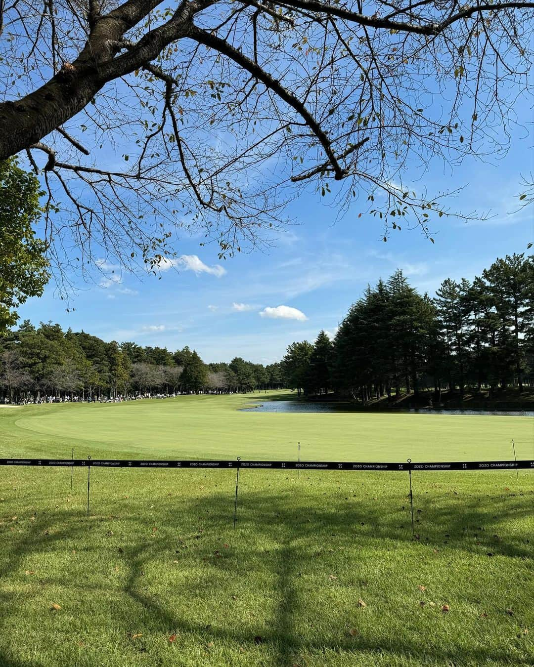
[(289, 346), (282, 368), (300, 393), (336, 390), (368, 402), (433, 388), (534, 386), (534, 256), (497, 259), (470, 282), (421, 295), (402, 271), (368, 287), (334, 341)]

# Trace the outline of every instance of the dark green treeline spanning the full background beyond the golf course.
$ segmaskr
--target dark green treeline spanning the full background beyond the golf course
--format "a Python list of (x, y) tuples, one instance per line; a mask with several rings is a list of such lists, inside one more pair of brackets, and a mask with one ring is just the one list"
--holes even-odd
[(291, 388), (368, 404), (403, 394), (534, 386), (534, 256), (497, 259), (470, 282), (421, 295), (402, 271), (368, 286), (334, 340), (292, 343), (280, 363), (204, 364), (195, 350), (104, 342), (59, 324), (24, 321), (0, 340), (0, 398), (114, 400)]

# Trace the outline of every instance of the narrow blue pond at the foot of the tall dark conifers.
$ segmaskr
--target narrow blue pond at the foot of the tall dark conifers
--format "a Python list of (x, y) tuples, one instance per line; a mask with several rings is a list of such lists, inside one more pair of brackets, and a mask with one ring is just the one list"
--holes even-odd
[[(303, 401), (268, 401), (260, 406), (242, 408), (246, 412), (374, 412), (361, 410), (348, 403), (320, 403)], [(393, 414), (479, 415), (499, 417), (534, 417), (534, 410), (391, 410)]]

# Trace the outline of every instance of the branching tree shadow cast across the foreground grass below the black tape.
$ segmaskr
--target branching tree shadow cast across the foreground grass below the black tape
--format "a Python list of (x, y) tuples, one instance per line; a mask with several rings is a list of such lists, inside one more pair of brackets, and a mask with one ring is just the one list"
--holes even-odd
[[(89, 522), (81, 518), (78, 510), (58, 510), (38, 514), (30, 526), (21, 529), (21, 534), (3, 534), (0, 542), (2, 634), (9, 632), (12, 618), (18, 612), (18, 609), (13, 610), (12, 594), (4, 590), (3, 582), (22, 576), (23, 563), (31, 560), (33, 554), (64, 554), (68, 544), (83, 542), (87, 544), (85, 560), (94, 560), (95, 564), (102, 550), (117, 554), (120, 548), (117, 559), (126, 574), (118, 590), (131, 604), (125, 610), (115, 606), (110, 610), (109, 618), (95, 619), (104, 626), (114, 624), (131, 628), (142, 623), (148, 633), (190, 634), (201, 644), (222, 641), (236, 651), (240, 647), (257, 648), (259, 642), (255, 638), (261, 632), (259, 641), (268, 650), (268, 655), (263, 657), (265, 662), (258, 664), (300, 664), (298, 661), (303, 655), (325, 651), (353, 655), (355, 664), (356, 656), (362, 652), (376, 655), (377, 664), (378, 660), (387, 660), (387, 656), (391, 660), (404, 658), (407, 664), (413, 660), (421, 664), (528, 664), (525, 658), (512, 656), (506, 646), (485, 648), (479, 638), (473, 638), (467, 646), (451, 648), (451, 642), (442, 646), (429, 645), (425, 638), (414, 638), (413, 633), (398, 634), (388, 632), (387, 628), (380, 638), (376, 635), (353, 638), (345, 631), (332, 636), (332, 632), (322, 626), (303, 636), (299, 628), (308, 613), (306, 586), (300, 584), (302, 572), (312, 570), (312, 575), (307, 575), (306, 585), (316, 585), (320, 572), (320, 581), (326, 582), (325, 587), (338, 586), (337, 582), (328, 582), (328, 549), (332, 547), (336, 554), (346, 554), (343, 562), (356, 564), (354, 571), (340, 576), (339, 586), (344, 586), (342, 593), (345, 594), (342, 604), (347, 610), (354, 604), (354, 599), (357, 600), (362, 586), (358, 574), (359, 550), (365, 550), (370, 558), (376, 554), (374, 558), (377, 559), (385, 558), (386, 549), (392, 552), (403, 550), (407, 560), (412, 559), (408, 564), (410, 567), (417, 563), (421, 554), (426, 556), (439, 547), (446, 554), (462, 554), (473, 559), (479, 567), (483, 567), (484, 558), (490, 562), (492, 558), (501, 557), (513, 568), (516, 563), (526, 565), (525, 571), (532, 574), (532, 540), (529, 541), (524, 532), (507, 529), (517, 522), (532, 525), (534, 496), (529, 492), (523, 495), (493, 492), (485, 497), (457, 500), (444, 491), (421, 493), (416, 497), (416, 508), (421, 510), (417, 513), (419, 539), (414, 539), (406, 495), (396, 489), (378, 498), (366, 495), (367, 488), (359, 490), (358, 494), (344, 492), (340, 487), (330, 488), (326, 502), (322, 504), (316, 486), (306, 485), (305, 481), (299, 488), (292, 486), (282, 491), (280, 488), (251, 490), (244, 484), (238, 498), (235, 531), (231, 528), (232, 494), (218, 491), (202, 498), (178, 496), (170, 500), (166, 490), (162, 488), (159, 493), (158, 489), (154, 492), (159, 528), (149, 537), (154, 515), (148, 514), (145, 500), (125, 502), (109, 491), (105, 496), (94, 492), (92, 506), (97, 515)], [(107, 530), (109, 526), (113, 527), (112, 536), (107, 536), (111, 532)], [(214, 545), (220, 544), (222, 539), (231, 542), (232, 548), (222, 554), (217, 550), (214, 554)], [(118, 547), (120, 544), (123, 546)], [(270, 545), (275, 548), (267, 548)], [(185, 572), (193, 564), (202, 568), (202, 575), (194, 582), (188, 579), (180, 584), (187, 587), (189, 600), (206, 600), (214, 595), (223, 578), (251, 578), (254, 586), (260, 558), (262, 568), (272, 579), (274, 604), (269, 624), (252, 619), (249, 622), (240, 619), (237, 623), (230, 617), (220, 619), (218, 623), (204, 623), (193, 618), (188, 608), (170, 608), (168, 598), (159, 592), (159, 584), (147, 580), (144, 570), (162, 559), (172, 562), (177, 551), (180, 552), (176, 559), (178, 571), (182, 568)], [(53, 572), (41, 578), (39, 583), (41, 586), (68, 586), (80, 591), (91, 590), (93, 586), (95, 594), (103, 596), (116, 592), (117, 589), (112, 590), (105, 580), (97, 585), (84, 581), (80, 567), (73, 566), (70, 572), (68, 569)], [(442, 567), (446, 568), (447, 564)], [(398, 576), (402, 578), (403, 572), (398, 572)], [(180, 586), (172, 588), (173, 595), (180, 595)], [(326, 592), (326, 588), (324, 590)], [(334, 599), (338, 600), (339, 596)], [(346, 609), (335, 612), (340, 627)], [(0, 652), (2, 666), (41, 667), (42, 664), (44, 667), (46, 664), (20, 661), (5, 648), (0, 650), (4, 651)], [(206, 655), (206, 663), (209, 660)]]

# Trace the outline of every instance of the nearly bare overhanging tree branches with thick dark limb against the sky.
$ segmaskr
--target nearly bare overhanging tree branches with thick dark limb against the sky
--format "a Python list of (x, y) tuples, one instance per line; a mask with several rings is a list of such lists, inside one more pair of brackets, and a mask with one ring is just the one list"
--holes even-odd
[(533, 10), (0, 0), (0, 159), (25, 151), (43, 174), (58, 263), (86, 266), (104, 247), (157, 265), (174, 225), (232, 253), (268, 237), (310, 182), (329, 195), (342, 181), (338, 204), (368, 197), (384, 235), (399, 223), (429, 235), (429, 217), (449, 213), (402, 175), (505, 149)]

